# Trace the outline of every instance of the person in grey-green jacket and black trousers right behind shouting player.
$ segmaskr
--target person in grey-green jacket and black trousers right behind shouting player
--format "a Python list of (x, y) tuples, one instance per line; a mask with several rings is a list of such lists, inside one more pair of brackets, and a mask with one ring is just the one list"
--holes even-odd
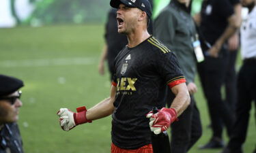
[[(194, 94), (197, 92), (195, 75), (197, 61), (202, 60), (202, 52), (195, 54), (195, 47), (199, 43), (195, 22), (190, 15), (190, 0), (171, 0), (169, 5), (154, 20), (154, 34), (177, 57), (182, 73), (186, 77), (186, 84), (190, 94), (190, 105), (180, 116), (179, 122), (171, 124), (171, 152), (185, 153), (201, 137), (201, 120)], [(201, 51), (201, 50), (200, 50)], [(197, 57), (197, 58), (196, 58)], [(168, 93), (172, 96), (172, 93)], [(171, 101), (168, 101), (170, 105)]]

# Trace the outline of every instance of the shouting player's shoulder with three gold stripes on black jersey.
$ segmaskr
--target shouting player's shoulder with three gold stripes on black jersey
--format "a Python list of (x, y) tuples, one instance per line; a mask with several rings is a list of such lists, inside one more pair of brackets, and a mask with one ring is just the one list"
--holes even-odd
[(149, 51), (154, 52), (154, 54), (167, 54), (171, 52), (169, 48), (167, 48), (165, 45), (163, 45), (158, 39), (156, 39), (154, 36), (147, 39)]

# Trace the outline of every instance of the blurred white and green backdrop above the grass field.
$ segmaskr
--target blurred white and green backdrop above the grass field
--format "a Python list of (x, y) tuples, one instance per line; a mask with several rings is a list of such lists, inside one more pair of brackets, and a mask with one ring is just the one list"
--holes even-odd
[[(154, 17), (169, 1), (154, 1)], [(201, 0), (195, 0), (193, 13), (200, 6)], [(107, 10), (109, 1), (104, 0), (1, 0), (0, 27), (103, 23)]]

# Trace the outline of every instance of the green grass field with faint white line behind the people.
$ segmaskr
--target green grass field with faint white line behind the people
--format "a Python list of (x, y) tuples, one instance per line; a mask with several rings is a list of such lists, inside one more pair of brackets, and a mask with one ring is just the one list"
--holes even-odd
[[(60, 107), (75, 110), (91, 107), (109, 96), (109, 75), (98, 74), (98, 60), (104, 27), (100, 24), (0, 29), (0, 73), (25, 82), (20, 131), (26, 153), (108, 153), (111, 145), (111, 117), (62, 131), (56, 112)], [(208, 109), (199, 92), (195, 95), (203, 122), (203, 136), (190, 153), (216, 153), (198, 150), (211, 137)], [(244, 152), (255, 148), (255, 111)], [(227, 137), (225, 136), (225, 140)]]

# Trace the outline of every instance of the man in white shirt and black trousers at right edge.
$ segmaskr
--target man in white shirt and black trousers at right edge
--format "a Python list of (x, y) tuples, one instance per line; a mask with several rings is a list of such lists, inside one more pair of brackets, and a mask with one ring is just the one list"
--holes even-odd
[[(248, 7), (248, 18), (241, 27), (241, 52), (243, 65), (238, 73), (238, 103), (236, 122), (229, 143), (222, 153), (242, 153), (246, 139), (252, 102), (256, 103), (256, 0), (242, 0)], [(256, 153), (256, 148), (253, 153)]]

